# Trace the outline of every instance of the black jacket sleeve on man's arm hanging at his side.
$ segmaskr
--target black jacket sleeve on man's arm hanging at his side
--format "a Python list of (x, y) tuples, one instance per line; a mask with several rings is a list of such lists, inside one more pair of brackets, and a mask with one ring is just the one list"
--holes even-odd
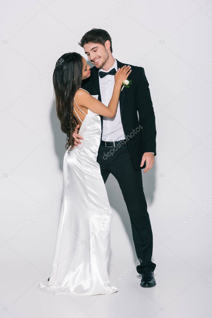
[(154, 108), (144, 68), (140, 67), (140, 79), (136, 89), (136, 105), (142, 126), (143, 150), (156, 156), (156, 125)]

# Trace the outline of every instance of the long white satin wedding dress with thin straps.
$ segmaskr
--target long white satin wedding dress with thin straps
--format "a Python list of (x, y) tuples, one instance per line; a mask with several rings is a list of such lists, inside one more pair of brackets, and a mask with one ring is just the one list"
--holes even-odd
[[(98, 99), (98, 95), (92, 96)], [(82, 112), (86, 116), (83, 122), (79, 118), (82, 144), (64, 155), (64, 196), (52, 270), (49, 281), (38, 285), (54, 295), (110, 295), (118, 291), (110, 284), (107, 272), (112, 211), (96, 161), (101, 120), (99, 114), (87, 111)]]

